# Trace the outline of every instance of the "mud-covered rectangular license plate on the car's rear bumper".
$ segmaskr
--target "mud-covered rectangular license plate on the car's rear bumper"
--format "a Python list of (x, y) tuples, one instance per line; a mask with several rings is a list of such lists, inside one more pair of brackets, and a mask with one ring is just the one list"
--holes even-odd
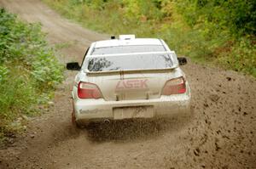
[(154, 117), (153, 106), (134, 106), (113, 108), (113, 119), (130, 119), (130, 118), (152, 118)]

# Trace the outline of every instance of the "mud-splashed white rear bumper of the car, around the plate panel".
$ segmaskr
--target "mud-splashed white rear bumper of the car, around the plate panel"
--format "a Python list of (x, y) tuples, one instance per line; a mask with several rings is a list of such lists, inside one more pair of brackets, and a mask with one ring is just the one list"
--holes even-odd
[[(166, 117), (190, 112), (190, 94), (161, 96), (160, 99), (140, 99), (105, 101), (104, 99), (79, 99), (74, 101), (76, 121), (115, 120), (114, 110), (127, 107), (150, 107), (151, 115), (145, 118)], [(146, 112), (147, 113), (147, 112)], [(119, 116), (119, 119), (136, 118), (136, 116)]]

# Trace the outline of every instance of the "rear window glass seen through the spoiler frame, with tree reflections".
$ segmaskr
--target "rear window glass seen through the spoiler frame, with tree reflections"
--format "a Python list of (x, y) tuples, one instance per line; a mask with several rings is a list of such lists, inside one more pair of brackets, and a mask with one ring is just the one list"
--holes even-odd
[(154, 70), (172, 68), (172, 54), (123, 54), (89, 57), (90, 71)]

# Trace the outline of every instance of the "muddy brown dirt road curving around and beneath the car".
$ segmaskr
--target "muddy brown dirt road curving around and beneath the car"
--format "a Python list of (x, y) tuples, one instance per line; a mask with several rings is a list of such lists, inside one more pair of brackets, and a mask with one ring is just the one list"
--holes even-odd
[[(106, 36), (65, 20), (38, 0), (0, 0), (28, 22), (41, 22), (65, 63), (83, 58)], [(171, 47), (172, 48), (172, 47)], [(26, 134), (0, 150), (0, 168), (256, 168), (256, 81), (234, 71), (189, 63), (192, 114), (166, 121), (71, 125), (74, 72), (55, 93), (54, 105), (33, 118)]]

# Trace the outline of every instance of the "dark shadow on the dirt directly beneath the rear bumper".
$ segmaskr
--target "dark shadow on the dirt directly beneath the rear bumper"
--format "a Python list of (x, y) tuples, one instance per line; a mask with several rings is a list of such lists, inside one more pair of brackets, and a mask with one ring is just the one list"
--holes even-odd
[(183, 129), (192, 115), (177, 115), (168, 119), (154, 120), (123, 120), (90, 123), (87, 129), (87, 137), (93, 142), (129, 142), (135, 139), (150, 139), (160, 137), (165, 132), (174, 132)]

